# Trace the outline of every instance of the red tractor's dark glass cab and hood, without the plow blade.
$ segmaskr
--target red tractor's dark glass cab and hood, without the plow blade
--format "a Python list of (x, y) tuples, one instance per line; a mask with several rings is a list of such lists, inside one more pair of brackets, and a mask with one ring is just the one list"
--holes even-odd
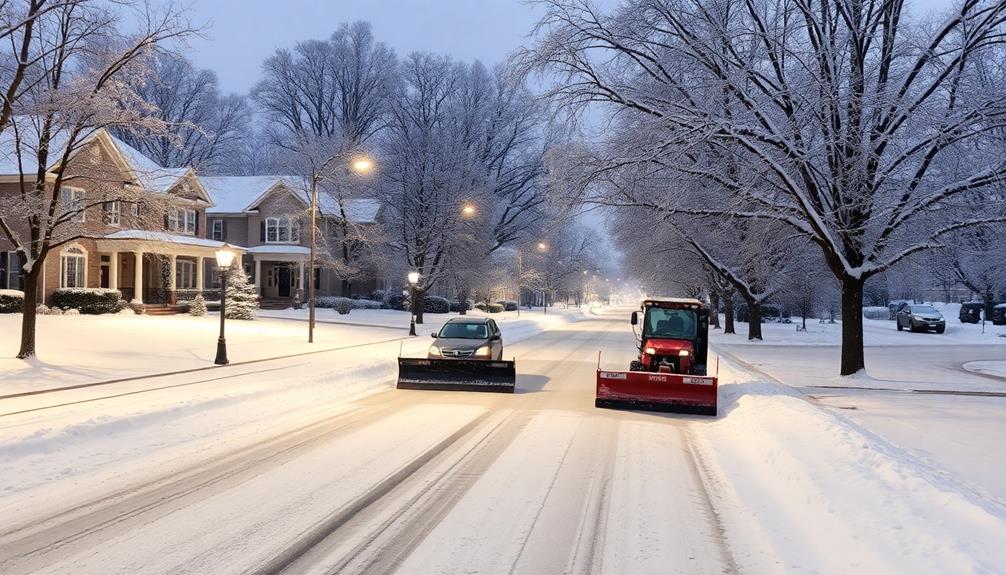
[(631, 318), (640, 353), (630, 371), (706, 374), (709, 312), (701, 302), (646, 300), (640, 311)]

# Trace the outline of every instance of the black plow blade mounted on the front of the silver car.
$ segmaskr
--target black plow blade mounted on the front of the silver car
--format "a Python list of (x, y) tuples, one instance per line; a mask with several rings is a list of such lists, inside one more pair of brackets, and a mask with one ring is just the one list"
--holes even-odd
[(398, 358), (398, 389), (513, 393), (513, 361)]

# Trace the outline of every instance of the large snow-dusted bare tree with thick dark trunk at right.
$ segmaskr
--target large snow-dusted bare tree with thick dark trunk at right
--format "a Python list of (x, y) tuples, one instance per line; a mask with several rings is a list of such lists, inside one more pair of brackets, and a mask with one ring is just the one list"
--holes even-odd
[[(1006, 1), (964, 0), (930, 29), (898, 2), (635, 0), (611, 15), (543, 4), (521, 61), (558, 74), (554, 102), (636, 118), (656, 134), (641, 154), (741, 200), (667, 209), (782, 222), (820, 248), (842, 286), (843, 375), (865, 365), (866, 279), (998, 219), (962, 200), (1006, 177), (986, 146), (1006, 94), (978, 80), (1002, 61)], [(709, 170), (686, 153), (696, 142), (767, 185)]]

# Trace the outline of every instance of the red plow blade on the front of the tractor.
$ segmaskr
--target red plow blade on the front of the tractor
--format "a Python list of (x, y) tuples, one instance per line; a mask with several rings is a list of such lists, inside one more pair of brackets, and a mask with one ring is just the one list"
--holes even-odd
[(716, 414), (715, 377), (647, 371), (598, 370), (595, 407)]

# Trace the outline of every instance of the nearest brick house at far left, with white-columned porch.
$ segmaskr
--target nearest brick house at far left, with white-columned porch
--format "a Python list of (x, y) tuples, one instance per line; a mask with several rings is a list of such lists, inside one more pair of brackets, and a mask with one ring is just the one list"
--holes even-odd
[[(0, 207), (14, 209), (9, 200), (20, 184), (9, 133), (0, 140), (0, 199), (8, 200)], [(168, 305), (209, 284), (223, 242), (205, 238), (212, 202), (192, 169), (163, 168), (101, 130), (79, 147), (64, 174), (59, 203), (72, 206), (66, 211), (82, 208), (71, 222), (79, 238), (42, 261), (40, 302), (50, 304), (59, 288), (110, 288), (135, 303)], [(12, 250), (0, 237), (0, 288), (22, 285)]]

